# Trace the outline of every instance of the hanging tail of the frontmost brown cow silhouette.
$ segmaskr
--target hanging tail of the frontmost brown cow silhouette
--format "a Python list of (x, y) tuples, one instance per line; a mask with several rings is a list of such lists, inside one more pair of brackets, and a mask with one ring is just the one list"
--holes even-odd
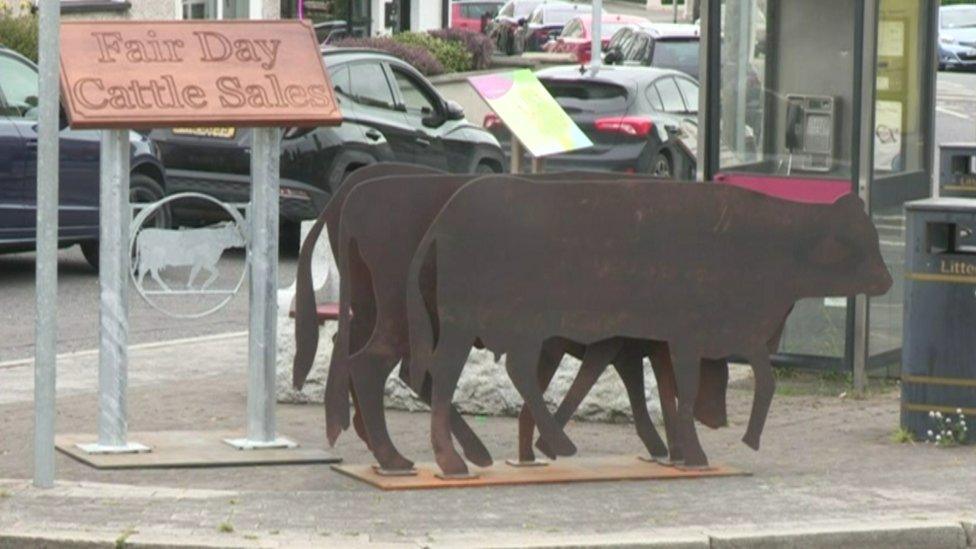
[(410, 263), (407, 280), (407, 324), (410, 329), (410, 386), (420, 393), (437, 346), (437, 246), (428, 234)]

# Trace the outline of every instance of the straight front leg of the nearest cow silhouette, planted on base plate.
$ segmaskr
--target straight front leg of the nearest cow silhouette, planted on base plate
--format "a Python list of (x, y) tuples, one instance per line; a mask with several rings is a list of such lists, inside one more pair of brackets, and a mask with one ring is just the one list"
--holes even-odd
[(684, 458), (683, 467), (701, 469), (708, 467), (708, 458), (695, 431), (695, 401), (698, 398), (698, 384), (701, 376), (701, 356), (695, 351), (671, 343), (671, 357), (674, 365), (674, 381), (678, 394), (678, 415), (676, 421), (677, 446)]

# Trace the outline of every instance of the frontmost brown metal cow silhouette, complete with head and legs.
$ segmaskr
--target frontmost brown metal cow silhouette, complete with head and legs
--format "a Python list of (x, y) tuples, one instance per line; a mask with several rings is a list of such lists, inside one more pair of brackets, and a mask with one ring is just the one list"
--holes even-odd
[[(422, 292), (436, 280), (436, 291)], [(758, 449), (774, 381), (769, 342), (802, 298), (891, 286), (878, 234), (853, 196), (788, 202), (725, 185), (484, 177), (454, 194), (424, 236), (407, 286), (411, 380), (431, 376), (441, 471), (466, 475), (450, 403), (472, 342), (506, 370), (556, 455), (573, 443), (534, 375), (543, 343), (666, 341), (678, 398), (676, 444), (706, 467), (694, 407), (702, 358), (743, 356), (756, 379), (743, 441)]]

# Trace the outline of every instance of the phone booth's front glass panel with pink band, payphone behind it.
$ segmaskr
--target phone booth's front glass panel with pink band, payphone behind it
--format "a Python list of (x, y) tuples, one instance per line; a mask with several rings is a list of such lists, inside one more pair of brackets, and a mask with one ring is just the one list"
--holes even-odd
[[(712, 34), (720, 37), (715, 180), (804, 202), (832, 202), (855, 188), (860, 5), (722, 3), (720, 32)], [(841, 359), (847, 323), (845, 298), (801, 301), (780, 352)]]

